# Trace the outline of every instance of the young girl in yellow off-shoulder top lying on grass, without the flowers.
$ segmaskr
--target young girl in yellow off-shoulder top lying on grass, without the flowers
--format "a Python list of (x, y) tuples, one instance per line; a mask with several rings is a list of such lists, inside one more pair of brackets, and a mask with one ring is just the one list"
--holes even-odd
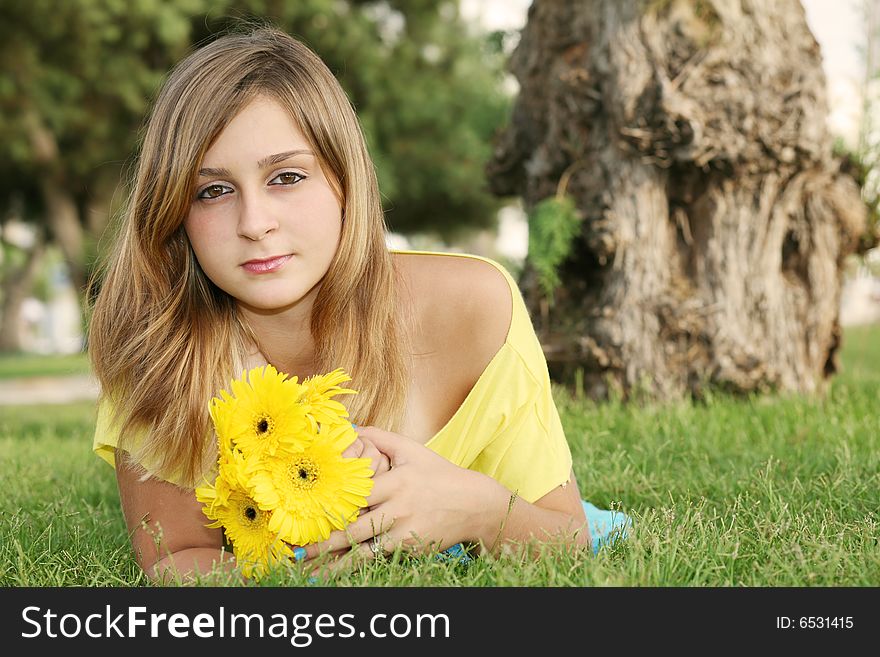
[(386, 248), (345, 93), (271, 28), (217, 39), (166, 81), (89, 348), (103, 390), (94, 448), (116, 467), (151, 577), (229, 559), (193, 493), (216, 462), (208, 401), (266, 363), (300, 379), (344, 368), (364, 427), (348, 454), (375, 471), (369, 509), (297, 558), (462, 541), (589, 546), (590, 530), (625, 519), (581, 502), (510, 275), (474, 256)]

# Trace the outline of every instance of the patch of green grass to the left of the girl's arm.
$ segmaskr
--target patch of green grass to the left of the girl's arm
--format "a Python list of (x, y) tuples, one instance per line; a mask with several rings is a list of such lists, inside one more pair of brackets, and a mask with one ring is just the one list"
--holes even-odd
[(94, 404), (0, 406), (0, 585), (143, 581), (109, 466), (89, 453)]

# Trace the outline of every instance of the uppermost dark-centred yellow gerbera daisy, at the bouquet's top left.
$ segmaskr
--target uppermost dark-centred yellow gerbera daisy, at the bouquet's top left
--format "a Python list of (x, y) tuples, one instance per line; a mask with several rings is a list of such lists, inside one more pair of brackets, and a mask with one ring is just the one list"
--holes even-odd
[(271, 365), (255, 367), (231, 383), (232, 394), (221, 391), (211, 400), (211, 419), (223, 446), (229, 441), (248, 459), (303, 449), (311, 422), (297, 402), (302, 387)]

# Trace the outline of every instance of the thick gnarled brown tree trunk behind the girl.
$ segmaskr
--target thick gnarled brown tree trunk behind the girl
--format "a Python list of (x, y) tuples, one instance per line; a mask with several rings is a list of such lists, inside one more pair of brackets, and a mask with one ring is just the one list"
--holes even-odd
[(595, 397), (821, 387), (865, 207), (800, 3), (535, 0), (511, 67), (493, 191), (534, 206), (566, 174), (582, 218), (536, 319), (554, 378)]

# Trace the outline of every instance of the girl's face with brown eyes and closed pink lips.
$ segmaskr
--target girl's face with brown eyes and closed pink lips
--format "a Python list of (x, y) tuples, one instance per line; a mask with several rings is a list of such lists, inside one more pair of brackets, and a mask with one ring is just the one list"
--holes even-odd
[(265, 313), (317, 294), (342, 206), (290, 115), (258, 96), (205, 153), (184, 229), (208, 278)]

